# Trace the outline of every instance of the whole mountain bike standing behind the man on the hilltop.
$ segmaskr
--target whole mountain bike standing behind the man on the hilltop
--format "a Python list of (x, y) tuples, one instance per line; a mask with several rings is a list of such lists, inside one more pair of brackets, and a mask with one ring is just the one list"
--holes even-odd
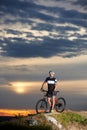
[[(36, 103), (35, 109), (36, 113), (46, 113), (48, 110), (48, 101), (47, 101), (47, 90), (43, 90), (42, 92), (45, 92), (44, 96), (42, 99), (39, 99)], [(55, 91), (55, 105), (54, 109), (56, 112), (63, 112), (66, 107), (66, 100), (63, 97), (57, 97), (57, 93), (60, 91)]]

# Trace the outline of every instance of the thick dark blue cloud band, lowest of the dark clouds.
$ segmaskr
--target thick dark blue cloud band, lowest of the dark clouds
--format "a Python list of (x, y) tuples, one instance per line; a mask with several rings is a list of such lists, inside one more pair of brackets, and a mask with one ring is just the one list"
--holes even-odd
[[(3, 55), (12, 57), (51, 57), (59, 55), (64, 57), (72, 57), (81, 54), (81, 51), (87, 48), (86, 43), (80, 40), (70, 42), (66, 39), (50, 39), (44, 37), (44, 41), (25, 44), (25, 40), (16, 39), (17, 42), (11, 43), (10, 39), (5, 40), (6, 46), (3, 46)], [(64, 55), (63, 55), (64, 54)]]

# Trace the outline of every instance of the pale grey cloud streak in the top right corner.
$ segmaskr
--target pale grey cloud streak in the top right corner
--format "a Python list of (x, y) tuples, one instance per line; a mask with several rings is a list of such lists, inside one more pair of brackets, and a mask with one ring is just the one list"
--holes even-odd
[[(36, 2), (36, 1), (35, 1)], [(65, 10), (75, 10), (86, 13), (87, 2), (85, 0), (37, 0), (36, 4), (44, 5), (45, 7), (61, 7)]]

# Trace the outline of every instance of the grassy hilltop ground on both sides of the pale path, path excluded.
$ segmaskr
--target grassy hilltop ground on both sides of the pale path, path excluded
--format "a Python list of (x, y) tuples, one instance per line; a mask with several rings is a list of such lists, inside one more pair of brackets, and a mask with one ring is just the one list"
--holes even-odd
[[(87, 112), (76, 112), (66, 110), (63, 113), (54, 112), (49, 114), (61, 123), (61, 130), (87, 130)], [(0, 129), (11, 129), (11, 130), (59, 130), (55, 124), (49, 122), (45, 114), (34, 114), (15, 117), (1, 117), (0, 118)]]

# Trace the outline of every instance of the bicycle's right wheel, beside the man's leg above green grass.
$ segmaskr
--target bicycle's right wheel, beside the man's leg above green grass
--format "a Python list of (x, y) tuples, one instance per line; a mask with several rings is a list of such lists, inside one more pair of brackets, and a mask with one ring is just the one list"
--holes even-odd
[(57, 99), (57, 103), (55, 103), (55, 109), (57, 112), (63, 112), (66, 107), (66, 100), (63, 97), (59, 97)]

